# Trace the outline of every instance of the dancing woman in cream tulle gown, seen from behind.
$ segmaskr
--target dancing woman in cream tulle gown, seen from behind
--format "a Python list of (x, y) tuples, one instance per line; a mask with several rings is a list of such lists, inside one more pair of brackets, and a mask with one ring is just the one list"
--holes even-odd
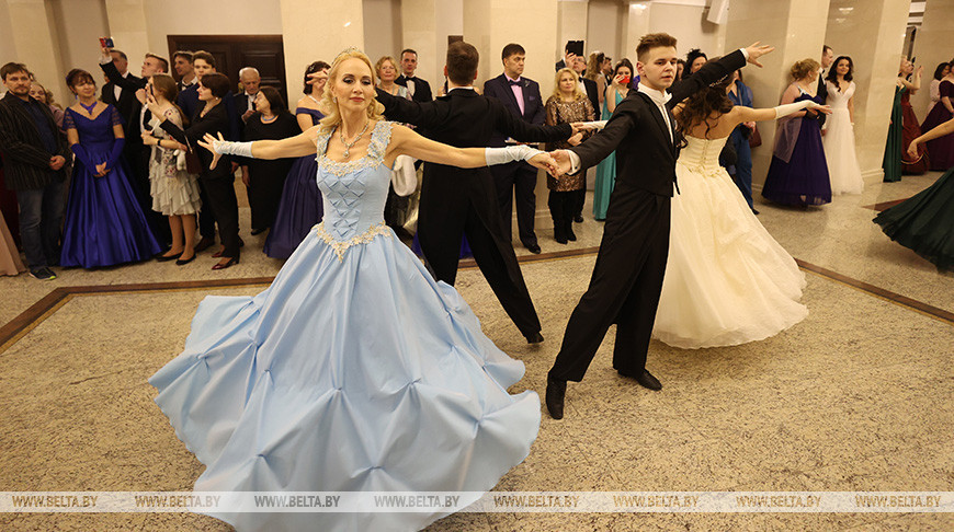
[(804, 274), (759, 223), (718, 155), (741, 123), (830, 109), (810, 100), (732, 106), (725, 89), (716, 83), (674, 109), (686, 144), (675, 163), (679, 194), (652, 335), (686, 349), (768, 338), (808, 315), (799, 302)]

